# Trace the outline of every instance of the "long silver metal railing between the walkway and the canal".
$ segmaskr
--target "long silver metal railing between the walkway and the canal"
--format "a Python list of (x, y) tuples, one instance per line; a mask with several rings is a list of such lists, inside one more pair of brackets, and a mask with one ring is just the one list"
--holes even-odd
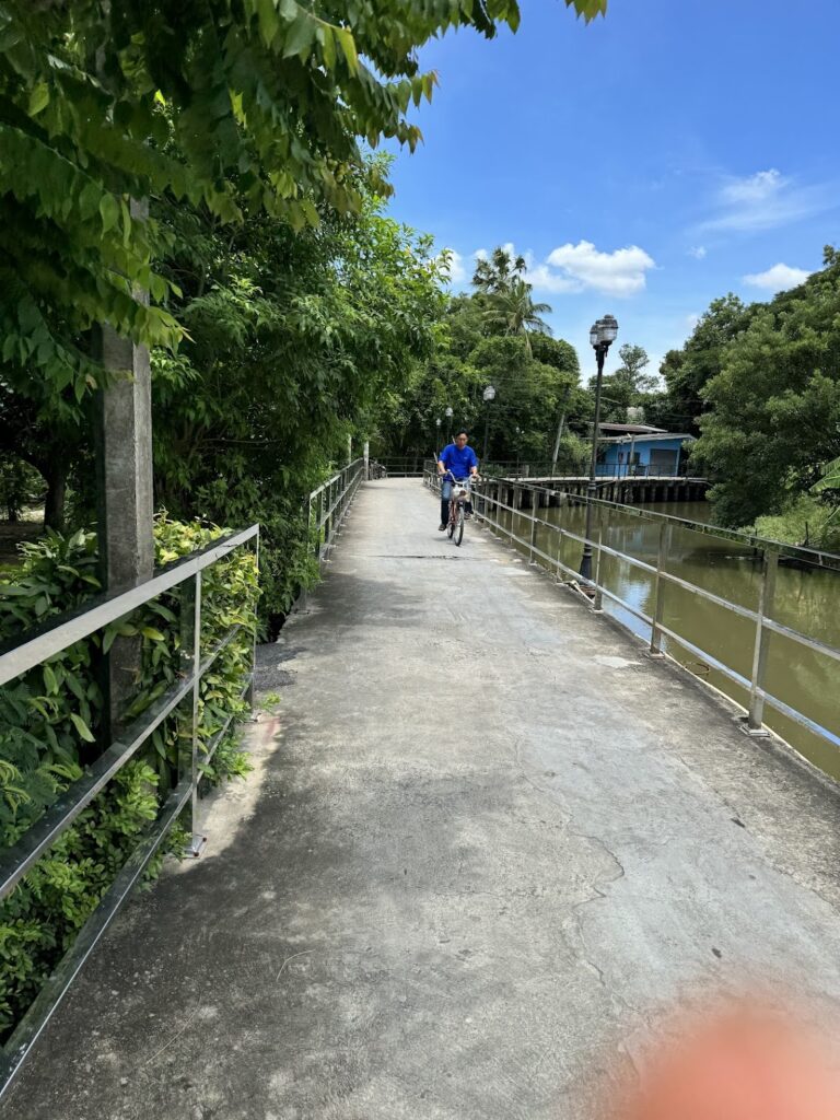
[[(426, 485), (431, 489), (437, 489), (439, 487), (436, 474), (431, 470), (426, 472), (423, 478)], [(660, 533), (660, 547), (657, 554), (657, 562), (655, 566), (647, 563), (644, 560), (640, 560), (627, 552), (622, 552), (619, 549), (613, 549), (604, 544), (600, 540), (600, 530), (598, 530), (597, 535), (591, 540), (591, 547), (596, 556), (596, 569), (595, 578), (592, 580), (591, 587), (594, 590), (594, 608), (596, 610), (600, 609), (601, 597), (606, 596), (612, 601), (618, 604), (625, 610), (636, 618), (640, 618), (647, 626), (651, 627), (651, 653), (654, 656), (664, 656), (662, 651), (662, 636), (672, 638), (678, 645), (682, 646), (684, 650), (701, 657), (708, 662), (713, 669), (719, 671), (721, 674), (727, 676), (734, 683), (738, 684), (740, 688), (749, 692), (749, 704), (745, 709), (747, 712), (747, 727), (754, 734), (767, 734), (764, 727), (764, 704), (767, 703), (776, 711), (786, 716), (788, 719), (800, 724), (805, 727), (812, 734), (828, 740), (832, 746), (840, 747), (840, 736), (836, 735), (829, 728), (823, 727), (815, 720), (811, 719), (804, 712), (787, 704), (781, 698), (768, 692), (764, 684), (764, 678), (766, 672), (767, 662), (767, 632), (780, 634), (791, 641), (799, 643), (806, 648), (814, 651), (815, 653), (831, 657), (834, 661), (840, 661), (840, 648), (829, 645), (828, 643), (821, 642), (818, 638), (813, 638), (808, 634), (803, 634), (791, 626), (786, 626), (783, 623), (778, 623), (773, 618), (768, 618), (767, 614), (772, 609), (773, 594), (775, 589), (775, 573), (778, 566), (778, 558), (782, 552), (784, 554), (795, 556), (800, 551), (813, 552), (814, 550), (800, 550), (794, 545), (784, 545), (776, 541), (765, 541), (760, 538), (749, 536), (747, 534), (735, 533), (732, 531), (724, 530), (718, 534), (715, 526), (704, 525), (701, 522), (691, 522), (680, 517), (670, 517), (668, 514), (655, 513), (653, 511), (642, 511), (634, 506), (620, 505), (615, 502), (606, 502), (601, 498), (589, 498), (585, 495), (569, 495), (562, 491), (557, 491), (553, 488), (541, 487), (535, 484), (525, 483), (500, 483), (495, 479), (492, 480), (492, 485), (497, 488), (501, 485), (508, 485), (513, 488), (514, 494), (516, 491), (528, 489), (531, 492), (536, 492), (539, 494), (551, 495), (552, 497), (567, 498), (570, 504), (584, 505), (591, 501), (595, 505), (601, 510), (612, 510), (620, 512), (624, 514), (632, 514), (633, 516), (644, 517), (645, 520), (656, 521), (661, 525)], [(531, 525), (530, 540), (525, 540), (519, 534), (513, 532), (513, 528), (506, 528), (502, 524), (498, 519), (487, 516), (487, 504), (492, 505), (497, 511), (506, 511)], [(575, 533), (569, 529), (564, 529), (560, 525), (556, 525), (552, 522), (544, 521), (543, 519), (536, 516), (529, 511), (523, 511), (515, 504), (511, 505), (502, 501), (500, 497), (492, 495), (486, 488), (478, 491), (476, 493), (475, 501), (475, 512), (479, 521), (484, 521), (486, 524), (492, 526), (494, 530), (498, 530), (503, 533), (510, 541), (520, 544), (523, 549), (526, 549), (529, 557), (533, 562), (534, 557), (543, 559), (549, 568), (553, 568), (559, 575), (563, 571), (571, 577), (571, 581), (586, 585), (586, 580), (568, 564), (563, 563), (559, 554), (557, 557), (551, 557), (547, 552), (543, 552), (535, 544), (535, 533), (536, 528), (542, 526), (543, 529), (556, 533), (558, 538), (562, 541), (568, 539), (575, 541), (576, 543), (586, 544), (587, 538)], [(709, 591), (704, 587), (700, 587), (697, 584), (692, 584), (689, 580), (682, 579), (679, 576), (674, 576), (672, 572), (664, 570), (664, 560), (668, 550), (666, 543), (666, 530), (669, 526), (680, 525), (683, 528), (691, 529), (692, 531), (706, 532), (708, 535), (720, 535), (726, 540), (735, 539), (738, 543), (748, 543), (754, 548), (760, 548), (763, 551), (764, 560), (764, 571), (762, 577), (762, 589), (759, 596), (758, 609), (753, 610), (749, 607), (744, 607), (740, 604), (732, 603), (713, 591)], [(559, 549), (558, 549), (559, 553)], [(836, 557), (833, 553), (823, 552), (820, 553), (822, 557), (831, 560), (837, 560), (840, 562), (840, 557)], [(614, 557), (623, 562), (629, 563), (633, 568), (644, 571), (647, 575), (654, 576), (656, 580), (656, 610), (655, 615), (652, 617), (641, 612), (632, 603), (628, 603), (622, 596), (617, 595), (607, 588), (603, 580), (599, 579), (600, 561), (604, 556)], [(827, 567), (825, 564), (821, 567)], [(832, 566), (832, 569), (833, 566)], [(721, 662), (719, 659), (715, 657), (708, 651), (702, 650), (700, 646), (690, 642), (687, 637), (678, 634), (675, 631), (665, 626), (662, 620), (662, 604), (663, 604), (663, 585), (671, 584), (676, 587), (681, 587), (684, 590), (690, 591), (692, 595), (697, 595), (700, 598), (715, 604), (716, 606), (722, 607), (724, 609), (730, 610), (732, 614), (746, 618), (755, 623), (756, 634), (755, 634), (755, 646), (754, 646), (754, 657), (753, 657), (753, 670), (749, 678), (739, 673), (737, 670)], [(732, 701), (736, 702), (737, 701)], [(743, 707), (739, 704), (739, 707)]]

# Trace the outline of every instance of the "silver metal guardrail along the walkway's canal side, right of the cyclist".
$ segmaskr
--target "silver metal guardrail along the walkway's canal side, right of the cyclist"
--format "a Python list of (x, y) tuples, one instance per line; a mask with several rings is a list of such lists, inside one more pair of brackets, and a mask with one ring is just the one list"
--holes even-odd
[[(439, 492), (440, 484), (436, 473), (427, 470), (423, 482), (433, 492)], [(495, 494), (492, 493), (494, 487), (496, 491)], [(522, 494), (525, 491), (533, 495), (531, 498), (533, 503), (532, 510), (530, 511), (522, 508)], [(510, 492), (510, 502), (503, 501), (501, 496), (503, 492)], [(578, 584), (585, 587), (585, 589), (590, 592), (594, 610), (598, 612), (603, 608), (603, 599), (606, 597), (650, 627), (650, 653), (652, 656), (662, 657), (668, 655), (662, 648), (662, 638), (663, 636), (666, 636), (675, 642), (676, 645), (687, 650), (693, 656), (701, 659), (729, 681), (744, 689), (748, 693), (748, 703), (746, 707), (743, 704), (738, 704), (738, 707), (744, 708), (746, 712), (746, 729), (752, 734), (768, 734), (764, 724), (764, 709), (767, 704), (782, 716), (805, 728), (812, 735), (830, 743), (833, 747), (840, 747), (840, 736), (829, 728), (823, 727), (816, 720), (811, 719), (797, 708), (786, 703), (780, 697), (774, 696), (766, 688), (768, 640), (772, 634), (793, 641), (813, 653), (830, 657), (834, 662), (840, 662), (840, 648), (829, 645), (825, 642), (821, 642), (818, 638), (810, 637), (809, 635), (803, 634), (791, 626), (786, 626), (783, 623), (776, 622), (771, 617), (773, 612), (780, 557), (786, 556), (795, 558), (796, 560), (804, 559), (813, 567), (823, 569), (829, 568), (836, 571), (840, 571), (840, 557), (832, 553), (821, 552), (816, 549), (801, 549), (799, 547), (784, 544), (777, 541), (767, 541), (763, 538), (753, 536), (747, 533), (739, 533), (732, 530), (718, 529), (717, 526), (707, 525), (701, 522), (687, 521), (680, 517), (670, 517), (666, 514), (640, 510), (637, 506), (619, 505), (615, 502), (606, 502), (600, 498), (595, 498), (592, 500), (592, 503), (598, 516), (594, 519), (594, 534), (592, 540), (590, 541), (595, 566), (592, 580), (591, 582), (588, 582), (581, 578), (577, 569), (570, 567), (560, 559), (560, 553), (562, 551), (561, 544), (564, 540), (576, 542), (580, 544), (582, 549), (584, 544), (587, 543), (586, 536), (562, 525), (557, 525), (553, 522), (545, 521), (544, 519), (539, 517), (536, 512), (534, 512), (539, 511), (539, 504), (541, 501), (544, 504), (548, 504), (550, 500), (554, 500), (560, 504), (568, 504), (569, 506), (578, 507), (585, 507), (590, 501), (584, 495), (566, 494), (563, 491), (550, 489), (534, 484), (503, 484), (491, 482), (489, 485), (485, 485), (484, 487), (479, 487), (474, 491), (473, 503), (477, 519), (491, 526), (494, 531), (506, 536), (511, 543), (519, 544), (523, 551), (526, 552), (528, 559), (531, 563), (540, 563), (541, 567), (544, 567), (549, 572), (552, 572), (558, 579), (562, 572), (564, 576), (569, 577), (569, 582)], [(645, 521), (655, 522), (660, 525), (655, 564), (647, 563), (645, 560), (641, 560), (638, 557), (635, 557), (629, 552), (609, 548), (604, 543), (603, 514), (610, 510), (620, 511), (622, 516), (640, 517)], [(511, 525), (505, 525), (501, 521), (498, 514), (502, 511), (511, 514)], [(495, 516), (493, 514), (495, 514)], [(520, 536), (514, 532), (514, 519), (520, 519), (528, 524), (528, 539)], [(740, 604), (732, 603), (720, 595), (716, 595), (713, 591), (709, 591), (704, 587), (700, 587), (699, 585), (683, 579), (680, 576), (675, 576), (673, 572), (666, 570), (665, 562), (669, 553), (670, 534), (674, 525), (680, 525), (684, 529), (691, 530), (692, 532), (734, 541), (741, 545), (760, 550), (762, 580), (758, 605), (755, 610)], [(558, 548), (553, 556), (538, 547), (538, 529), (541, 529), (547, 533), (556, 534)], [(603, 561), (606, 557), (612, 557), (616, 560), (628, 563), (637, 571), (644, 572), (653, 578), (653, 615), (646, 614), (644, 610), (640, 609), (638, 606), (629, 603), (627, 599), (617, 595), (606, 586), (606, 581), (601, 578)], [(755, 625), (752, 670), (749, 676), (738, 672), (731, 665), (726, 664), (709, 651), (703, 650), (699, 645), (689, 641), (683, 634), (680, 634), (672, 627), (665, 625), (665, 589), (669, 585), (682, 588), (692, 595), (697, 595), (707, 603), (721, 607), (730, 612), (731, 615), (747, 619)], [(731, 699), (732, 702), (738, 703), (735, 698), (730, 697), (729, 699)]]

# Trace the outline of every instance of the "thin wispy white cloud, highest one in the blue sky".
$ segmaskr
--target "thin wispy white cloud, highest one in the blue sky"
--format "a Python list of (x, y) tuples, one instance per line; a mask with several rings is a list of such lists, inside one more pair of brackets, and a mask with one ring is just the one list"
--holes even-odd
[(837, 190), (829, 184), (803, 187), (773, 167), (745, 178), (726, 179), (717, 193), (717, 213), (702, 222), (699, 230), (704, 233), (772, 230), (837, 205)]

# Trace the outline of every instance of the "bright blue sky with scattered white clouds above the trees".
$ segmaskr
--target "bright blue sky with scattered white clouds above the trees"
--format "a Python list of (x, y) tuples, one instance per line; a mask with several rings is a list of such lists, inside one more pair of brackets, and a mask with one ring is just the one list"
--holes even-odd
[(610, 0), (589, 26), (524, 0), (516, 35), (422, 52), (440, 85), (391, 213), (455, 250), (456, 289), (476, 251), (528, 254), (585, 373), (606, 311), (655, 368), (715, 297), (840, 244), (838, 43), (840, 0)]

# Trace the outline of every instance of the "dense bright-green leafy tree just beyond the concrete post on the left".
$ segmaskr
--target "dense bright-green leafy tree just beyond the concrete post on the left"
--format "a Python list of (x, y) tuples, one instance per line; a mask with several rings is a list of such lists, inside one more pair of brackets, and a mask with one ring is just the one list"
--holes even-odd
[(179, 517), (261, 522), (272, 628), (312, 575), (304, 495), (431, 355), (444, 312), (429, 239), (383, 205), (368, 190), (358, 213), (325, 211), (300, 233), (265, 214), (221, 228), (205, 208), (159, 207), (189, 337), (153, 355), (157, 501)]

